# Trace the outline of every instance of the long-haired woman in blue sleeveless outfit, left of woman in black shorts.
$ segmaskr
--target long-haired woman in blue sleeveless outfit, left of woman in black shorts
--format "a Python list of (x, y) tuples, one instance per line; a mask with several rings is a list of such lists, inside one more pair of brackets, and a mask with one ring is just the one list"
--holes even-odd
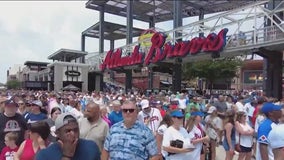
[(225, 160), (232, 160), (235, 152), (236, 144), (236, 129), (235, 129), (235, 114), (232, 111), (228, 111), (225, 114), (224, 120), (224, 140), (223, 147), (226, 151)]

